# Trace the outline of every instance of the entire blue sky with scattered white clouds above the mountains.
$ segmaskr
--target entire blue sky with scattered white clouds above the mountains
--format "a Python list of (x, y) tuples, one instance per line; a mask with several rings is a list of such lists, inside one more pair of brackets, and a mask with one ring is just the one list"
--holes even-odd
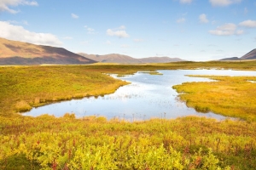
[(0, 0), (0, 37), (133, 58), (241, 57), (256, 48), (256, 0)]

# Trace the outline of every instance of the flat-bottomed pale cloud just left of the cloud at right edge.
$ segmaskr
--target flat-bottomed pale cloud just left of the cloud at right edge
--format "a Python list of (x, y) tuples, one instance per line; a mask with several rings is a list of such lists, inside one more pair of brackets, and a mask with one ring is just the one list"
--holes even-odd
[(236, 30), (236, 25), (233, 23), (227, 23), (223, 26), (218, 26), (216, 30), (210, 30), (209, 33), (216, 36), (232, 36), (241, 35), (244, 31)]

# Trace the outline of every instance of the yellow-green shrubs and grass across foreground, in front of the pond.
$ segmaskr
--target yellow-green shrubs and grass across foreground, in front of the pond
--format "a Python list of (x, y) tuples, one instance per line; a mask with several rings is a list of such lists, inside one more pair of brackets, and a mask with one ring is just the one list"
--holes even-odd
[[(256, 123), (1, 117), (1, 169), (253, 169)], [(229, 168), (230, 167), (230, 168)]]

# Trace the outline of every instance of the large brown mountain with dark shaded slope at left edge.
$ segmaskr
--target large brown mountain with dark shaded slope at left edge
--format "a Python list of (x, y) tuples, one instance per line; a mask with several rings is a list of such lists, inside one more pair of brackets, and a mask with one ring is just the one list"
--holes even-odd
[(65, 48), (11, 41), (0, 37), (0, 65), (84, 65), (96, 63)]

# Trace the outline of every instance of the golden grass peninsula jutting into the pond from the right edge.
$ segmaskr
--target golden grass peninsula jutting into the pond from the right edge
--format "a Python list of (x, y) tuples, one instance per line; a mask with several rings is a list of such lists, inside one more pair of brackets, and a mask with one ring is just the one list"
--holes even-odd
[(256, 121), (256, 77), (209, 77), (216, 82), (184, 82), (177, 89), (180, 99), (196, 111)]

